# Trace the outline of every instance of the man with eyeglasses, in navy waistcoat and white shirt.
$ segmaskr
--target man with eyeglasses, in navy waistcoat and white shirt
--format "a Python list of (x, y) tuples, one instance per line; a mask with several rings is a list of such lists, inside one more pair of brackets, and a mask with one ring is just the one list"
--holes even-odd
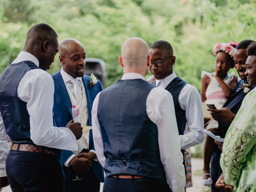
[[(181, 80), (172, 70), (175, 56), (170, 43), (155, 42), (150, 46), (150, 54), (152, 58), (149, 68), (156, 78), (153, 84), (172, 94), (183, 152), (184, 149), (200, 144), (204, 140), (204, 118), (200, 94), (194, 86)], [(186, 123), (189, 132), (184, 135)]]

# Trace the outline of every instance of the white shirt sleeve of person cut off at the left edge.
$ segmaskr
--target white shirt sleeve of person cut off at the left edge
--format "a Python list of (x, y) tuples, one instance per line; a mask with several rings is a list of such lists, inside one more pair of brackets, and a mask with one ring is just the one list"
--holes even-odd
[(5, 164), (10, 148), (6, 141), (0, 141), (0, 177), (6, 177)]

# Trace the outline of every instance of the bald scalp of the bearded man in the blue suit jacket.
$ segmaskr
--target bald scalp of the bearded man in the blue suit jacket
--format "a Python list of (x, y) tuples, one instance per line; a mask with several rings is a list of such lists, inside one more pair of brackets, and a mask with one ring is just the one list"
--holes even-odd
[(70, 50), (79, 47), (84, 49), (84, 46), (78, 40), (72, 38), (64, 39), (59, 45), (59, 55), (65, 57)]

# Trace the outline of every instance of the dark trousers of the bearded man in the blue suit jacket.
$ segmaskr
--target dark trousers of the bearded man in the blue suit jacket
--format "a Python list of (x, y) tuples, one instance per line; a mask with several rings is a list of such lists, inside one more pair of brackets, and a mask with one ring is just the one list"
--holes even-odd
[(89, 172), (78, 174), (79, 178), (82, 180), (72, 181), (76, 178), (74, 171), (70, 174), (69, 178), (66, 180), (65, 192), (99, 192), (100, 191), (100, 181), (95, 176), (92, 168)]

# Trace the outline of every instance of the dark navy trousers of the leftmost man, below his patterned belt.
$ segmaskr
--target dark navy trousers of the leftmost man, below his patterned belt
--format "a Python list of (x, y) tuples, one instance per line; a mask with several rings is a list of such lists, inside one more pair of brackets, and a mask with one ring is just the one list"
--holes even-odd
[(63, 192), (64, 172), (57, 156), (11, 150), (6, 174), (12, 192)]

